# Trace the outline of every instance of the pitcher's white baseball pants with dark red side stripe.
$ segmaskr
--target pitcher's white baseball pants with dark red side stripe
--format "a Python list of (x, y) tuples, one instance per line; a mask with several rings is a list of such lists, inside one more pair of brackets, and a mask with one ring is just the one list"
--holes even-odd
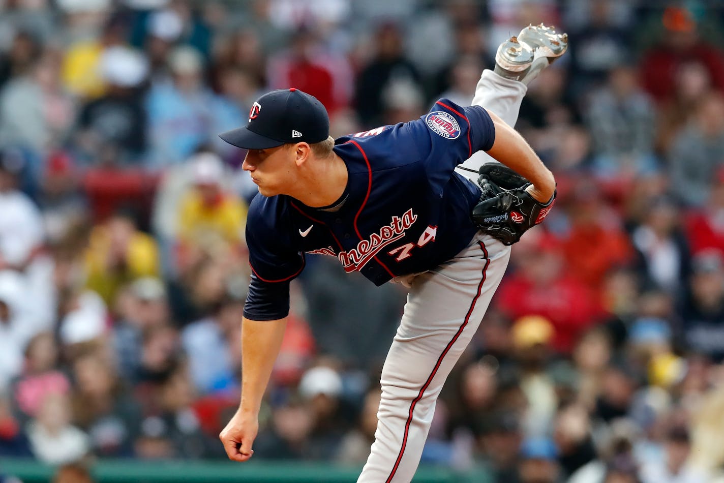
[[(485, 70), (473, 105), (515, 125), (526, 85)], [(463, 166), (477, 169), (480, 151)], [(460, 170), (473, 181), (476, 175)], [(358, 483), (410, 482), (430, 429), (437, 396), (475, 334), (502, 280), (510, 247), (479, 232), (455, 258), (410, 282), (400, 327), (382, 369), (382, 401), (371, 453)]]

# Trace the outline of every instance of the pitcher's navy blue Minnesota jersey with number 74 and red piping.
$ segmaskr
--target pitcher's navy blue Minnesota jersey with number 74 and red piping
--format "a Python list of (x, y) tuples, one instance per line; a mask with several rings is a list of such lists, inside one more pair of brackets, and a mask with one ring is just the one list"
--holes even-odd
[(288, 282), (305, 253), (334, 256), (375, 285), (451, 259), (477, 231), (470, 214), (480, 196), (455, 166), (489, 150), (494, 134), (485, 109), (441, 99), (420, 119), (335, 140), (348, 169), (338, 209), (258, 194), (246, 224), (253, 276), (245, 316), (287, 315)]

